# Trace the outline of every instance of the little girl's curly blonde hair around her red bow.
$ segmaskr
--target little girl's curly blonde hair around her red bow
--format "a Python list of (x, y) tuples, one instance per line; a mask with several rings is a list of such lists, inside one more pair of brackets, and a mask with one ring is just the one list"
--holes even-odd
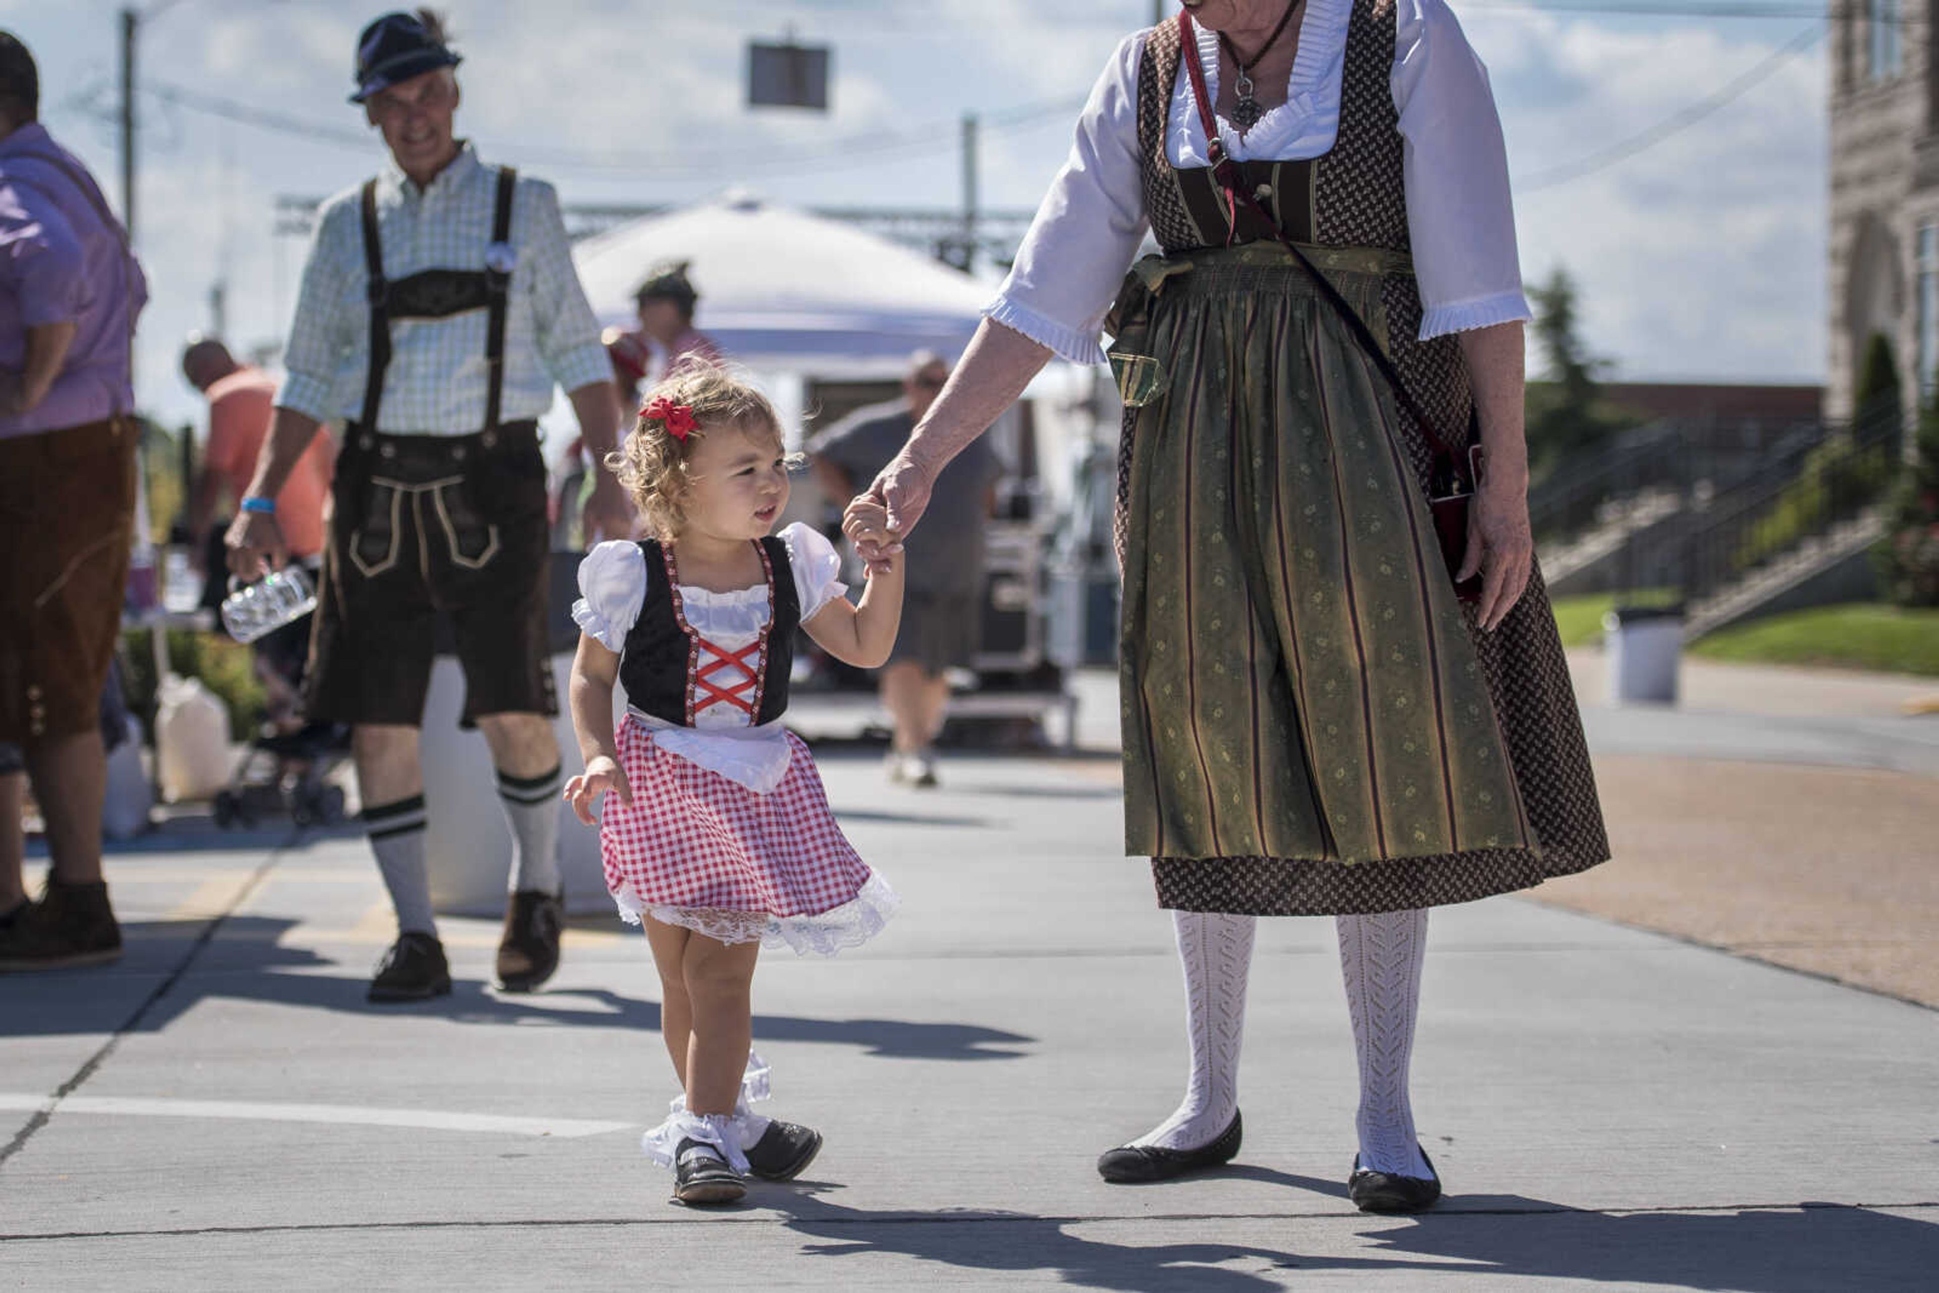
[(692, 479), (686, 463), (694, 444), (710, 430), (735, 426), (750, 434), (770, 434), (785, 444), (781, 419), (768, 397), (723, 368), (696, 364), (655, 384), (640, 399), (640, 409), (665, 399), (686, 405), (694, 426), (686, 438), (673, 436), (661, 419), (640, 417), (626, 440), (607, 454), (605, 465), (632, 496), (661, 543), (671, 543), (686, 521), (686, 487)]

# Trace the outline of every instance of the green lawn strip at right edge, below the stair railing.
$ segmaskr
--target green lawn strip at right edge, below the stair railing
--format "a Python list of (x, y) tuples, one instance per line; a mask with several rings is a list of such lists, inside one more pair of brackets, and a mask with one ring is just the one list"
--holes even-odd
[(1755, 665), (1827, 665), (1939, 677), (1939, 609), (1879, 603), (1751, 620), (1691, 644), (1691, 655)]

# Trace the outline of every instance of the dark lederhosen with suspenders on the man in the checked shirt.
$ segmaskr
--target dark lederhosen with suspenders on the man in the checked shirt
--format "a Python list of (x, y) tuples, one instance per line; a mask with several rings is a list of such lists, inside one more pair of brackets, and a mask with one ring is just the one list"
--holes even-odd
[[(518, 173), (500, 167), (481, 269), (423, 269), (397, 281), (384, 275), (376, 180), (363, 186), (370, 355), (363, 411), (337, 459), (308, 678), (316, 719), (419, 723), (440, 616), (465, 671), (467, 725), (481, 713), (558, 711), (545, 630), (545, 461), (533, 421), (498, 421), (516, 186)], [(487, 312), (479, 430), (378, 432), (392, 324), (471, 310)]]

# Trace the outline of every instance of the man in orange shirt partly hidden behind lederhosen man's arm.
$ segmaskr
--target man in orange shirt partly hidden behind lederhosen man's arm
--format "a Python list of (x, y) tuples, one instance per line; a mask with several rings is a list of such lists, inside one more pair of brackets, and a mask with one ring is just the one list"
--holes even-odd
[[(188, 502), (190, 554), (202, 560), (215, 508), (248, 492), (250, 473), (270, 434), (275, 378), (254, 364), (237, 363), (229, 347), (215, 339), (196, 339), (182, 351), (182, 376), (209, 401), (209, 440), (202, 454), (202, 475)], [(335, 467), (335, 442), (310, 440), (308, 452), (289, 473), (289, 485), (275, 496), (275, 516), (289, 541), (289, 554), (310, 562), (324, 551), (324, 500)], [(217, 568), (217, 574), (227, 574)]]

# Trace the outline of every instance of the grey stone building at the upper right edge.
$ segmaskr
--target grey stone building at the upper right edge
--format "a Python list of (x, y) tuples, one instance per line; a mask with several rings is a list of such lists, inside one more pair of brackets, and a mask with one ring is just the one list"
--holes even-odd
[(1850, 417), (1873, 333), (1892, 343), (1910, 413), (1939, 376), (1939, 0), (1834, 0), (1830, 10), (1825, 413)]

